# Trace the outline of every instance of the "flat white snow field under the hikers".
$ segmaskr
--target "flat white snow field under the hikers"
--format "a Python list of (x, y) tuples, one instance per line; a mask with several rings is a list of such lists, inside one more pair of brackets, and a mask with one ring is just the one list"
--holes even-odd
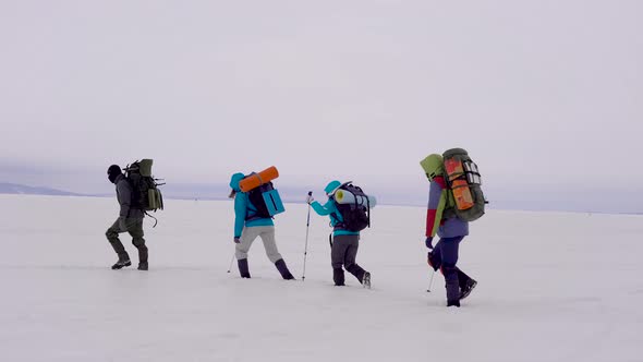
[(332, 286), (314, 213), (302, 281), (307, 205), (286, 206), (277, 241), (296, 281), (259, 240), (253, 278), (227, 273), (230, 201), (166, 201), (138, 272), (109, 268), (116, 198), (0, 195), (0, 360), (643, 361), (642, 216), (489, 210), (460, 248), (478, 286), (447, 309), (441, 275), (426, 291), (424, 208), (373, 209), (367, 290), (348, 274)]

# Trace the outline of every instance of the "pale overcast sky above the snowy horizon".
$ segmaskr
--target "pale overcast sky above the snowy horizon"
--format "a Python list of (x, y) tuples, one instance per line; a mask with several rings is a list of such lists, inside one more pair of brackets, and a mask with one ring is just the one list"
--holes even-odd
[(105, 191), (109, 165), (154, 158), (171, 182), (275, 165), (283, 183), (424, 198), (420, 159), (464, 147), (493, 190), (643, 203), (642, 14), (635, 0), (3, 0), (0, 181)]

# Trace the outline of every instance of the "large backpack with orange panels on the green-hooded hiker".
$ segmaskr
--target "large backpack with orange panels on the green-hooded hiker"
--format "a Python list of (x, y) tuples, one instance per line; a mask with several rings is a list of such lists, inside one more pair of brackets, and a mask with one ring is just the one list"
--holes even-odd
[(477, 165), (462, 148), (447, 149), (442, 154), (445, 181), (447, 182), (447, 206), (445, 217), (454, 214), (464, 221), (477, 220), (485, 214), (485, 195)]

